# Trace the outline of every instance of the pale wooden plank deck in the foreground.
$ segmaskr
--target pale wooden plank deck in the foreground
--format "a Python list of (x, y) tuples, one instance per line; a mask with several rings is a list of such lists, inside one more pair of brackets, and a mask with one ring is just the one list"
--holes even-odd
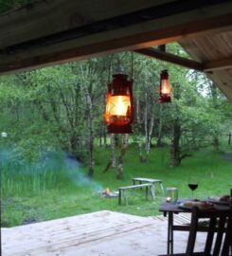
[[(178, 221), (183, 223), (180, 216)], [(118, 256), (132, 251), (134, 256), (158, 255), (166, 252), (167, 225), (163, 216), (101, 210), (1, 229), (3, 256)], [(175, 251), (183, 251), (186, 241), (187, 233), (178, 232)]]

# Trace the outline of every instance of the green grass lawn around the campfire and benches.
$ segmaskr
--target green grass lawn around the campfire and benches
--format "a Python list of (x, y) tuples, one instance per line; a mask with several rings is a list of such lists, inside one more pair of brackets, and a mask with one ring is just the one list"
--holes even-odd
[[(230, 150), (231, 151), (231, 150)], [(223, 153), (215, 153), (211, 149), (196, 152), (183, 160), (178, 168), (169, 167), (168, 149), (152, 149), (147, 162), (138, 159), (137, 148), (129, 147), (125, 155), (124, 180), (116, 179), (116, 171), (110, 169), (102, 174), (110, 149), (97, 148), (96, 170), (93, 180), (85, 178), (87, 169), (79, 167), (72, 161), (69, 170), (60, 172), (58, 166), (54, 170), (27, 167), (27, 172), (12, 170), (5, 166), (2, 174), (2, 227), (13, 227), (37, 221), (62, 218), (97, 210), (115, 210), (140, 216), (160, 214), (158, 211), (163, 194), (156, 185), (156, 198), (152, 202), (145, 200), (145, 192), (129, 191), (128, 206), (118, 206), (117, 198), (103, 198), (100, 191), (109, 187), (117, 191), (117, 187), (131, 185), (136, 176), (163, 180), (164, 187), (174, 186), (179, 190), (179, 197), (190, 197), (187, 187), (189, 177), (198, 179), (199, 187), (195, 191), (198, 198), (228, 194), (232, 187), (232, 161), (223, 159)], [(70, 169), (69, 168), (69, 169)]]

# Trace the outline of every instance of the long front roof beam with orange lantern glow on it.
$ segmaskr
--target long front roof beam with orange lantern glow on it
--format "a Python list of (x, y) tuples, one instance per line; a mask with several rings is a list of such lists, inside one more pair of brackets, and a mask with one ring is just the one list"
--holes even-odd
[(191, 19), (188, 16), (188, 13), (183, 14), (180, 20), (178, 15), (175, 15), (175, 22), (171, 16), (158, 19), (155, 23), (150, 21), (143, 26), (131, 27), (130, 31), (128, 28), (120, 28), (114, 32), (107, 31), (54, 46), (39, 47), (14, 54), (2, 53), (0, 54), (0, 73), (84, 60), (109, 53), (181, 41), (184, 38), (211, 34), (222, 29), (231, 29), (230, 15), (206, 18), (204, 22), (203, 20), (188, 22)]

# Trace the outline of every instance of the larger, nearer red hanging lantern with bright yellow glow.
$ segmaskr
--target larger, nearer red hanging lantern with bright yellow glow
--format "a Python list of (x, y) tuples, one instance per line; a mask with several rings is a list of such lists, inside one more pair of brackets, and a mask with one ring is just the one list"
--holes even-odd
[(105, 122), (111, 134), (132, 133), (133, 114), (133, 82), (127, 80), (127, 75), (114, 75), (114, 80), (108, 85), (106, 99)]

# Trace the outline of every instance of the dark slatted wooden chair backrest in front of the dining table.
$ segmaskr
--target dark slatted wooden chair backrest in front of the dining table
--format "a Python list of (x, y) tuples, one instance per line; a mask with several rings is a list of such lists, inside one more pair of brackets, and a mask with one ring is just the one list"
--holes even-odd
[[(198, 208), (192, 210), (186, 255), (194, 255), (199, 220), (202, 218), (209, 219), (205, 251), (202, 255), (229, 255), (229, 247), (232, 245), (232, 210), (199, 210)], [(213, 243), (214, 234), (216, 234), (215, 243)]]

